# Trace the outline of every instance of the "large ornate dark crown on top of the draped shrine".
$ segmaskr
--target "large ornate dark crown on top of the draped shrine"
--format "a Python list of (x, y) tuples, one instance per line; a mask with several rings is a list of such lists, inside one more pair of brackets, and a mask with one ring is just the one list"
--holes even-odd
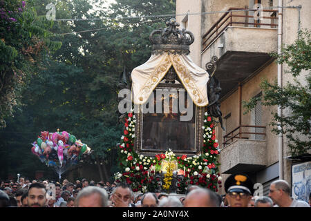
[(170, 19), (166, 23), (167, 28), (153, 30), (149, 36), (149, 40), (153, 44), (152, 54), (162, 54), (169, 52), (171, 54), (189, 55), (189, 45), (194, 43), (194, 34), (189, 30), (179, 30), (180, 26), (176, 19)]

